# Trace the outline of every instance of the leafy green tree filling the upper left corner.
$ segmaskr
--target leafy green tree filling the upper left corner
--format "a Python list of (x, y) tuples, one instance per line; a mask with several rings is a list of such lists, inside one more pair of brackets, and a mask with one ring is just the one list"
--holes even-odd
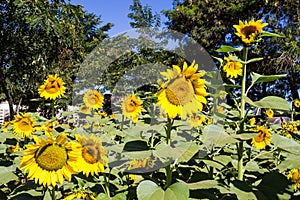
[(38, 97), (48, 74), (63, 76), (70, 88), (86, 53), (112, 26), (100, 27), (99, 17), (64, 0), (1, 0), (0, 9), (0, 85), (11, 118), (14, 104)]

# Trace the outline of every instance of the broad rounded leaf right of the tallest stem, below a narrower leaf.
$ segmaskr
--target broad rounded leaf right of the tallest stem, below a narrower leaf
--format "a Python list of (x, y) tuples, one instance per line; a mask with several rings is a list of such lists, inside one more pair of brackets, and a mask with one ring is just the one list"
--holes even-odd
[(259, 101), (252, 101), (250, 98), (245, 97), (246, 103), (257, 107), (257, 108), (270, 108), (277, 110), (286, 110), (289, 111), (289, 105), (287, 101), (281, 97), (277, 96), (267, 96)]

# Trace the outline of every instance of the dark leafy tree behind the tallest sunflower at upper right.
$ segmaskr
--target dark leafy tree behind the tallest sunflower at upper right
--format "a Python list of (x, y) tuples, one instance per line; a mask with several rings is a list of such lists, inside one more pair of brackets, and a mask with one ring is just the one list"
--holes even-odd
[[(163, 11), (169, 18), (168, 28), (187, 34), (201, 44), (211, 55), (221, 45), (236, 45), (239, 38), (232, 27), (239, 20), (263, 19), (268, 31), (282, 34), (284, 38), (265, 40), (251, 57), (263, 57), (263, 62), (249, 65), (249, 70), (260, 74), (287, 73), (287, 79), (261, 83), (250, 93), (260, 99), (266, 93), (277, 93), (292, 99), (299, 98), (299, 14), (298, 1), (201, 1), (175, 0), (174, 9)], [(270, 55), (272, 60), (270, 61)], [(285, 84), (289, 83), (289, 84)], [(260, 91), (260, 92), (257, 92)]]

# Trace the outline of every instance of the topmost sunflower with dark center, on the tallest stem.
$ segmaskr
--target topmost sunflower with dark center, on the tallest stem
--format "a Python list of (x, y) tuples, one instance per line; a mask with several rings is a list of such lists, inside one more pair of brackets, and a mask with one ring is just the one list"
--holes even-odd
[(248, 45), (255, 40), (255, 38), (262, 32), (263, 27), (267, 25), (267, 23), (262, 23), (262, 20), (254, 21), (254, 19), (252, 19), (250, 22), (245, 24), (240, 20), (239, 25), (233, 25), (233, 27), (237, 31), (235, 34)]

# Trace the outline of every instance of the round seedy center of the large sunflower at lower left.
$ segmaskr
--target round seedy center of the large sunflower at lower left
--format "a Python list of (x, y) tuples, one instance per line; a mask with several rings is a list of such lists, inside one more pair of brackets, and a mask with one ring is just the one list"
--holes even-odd
[(64, 147), (57, 144), (49, 144), (37, 151), (35, 159), (42, 169), (56, 171), (66, 165), (68, 156)]

